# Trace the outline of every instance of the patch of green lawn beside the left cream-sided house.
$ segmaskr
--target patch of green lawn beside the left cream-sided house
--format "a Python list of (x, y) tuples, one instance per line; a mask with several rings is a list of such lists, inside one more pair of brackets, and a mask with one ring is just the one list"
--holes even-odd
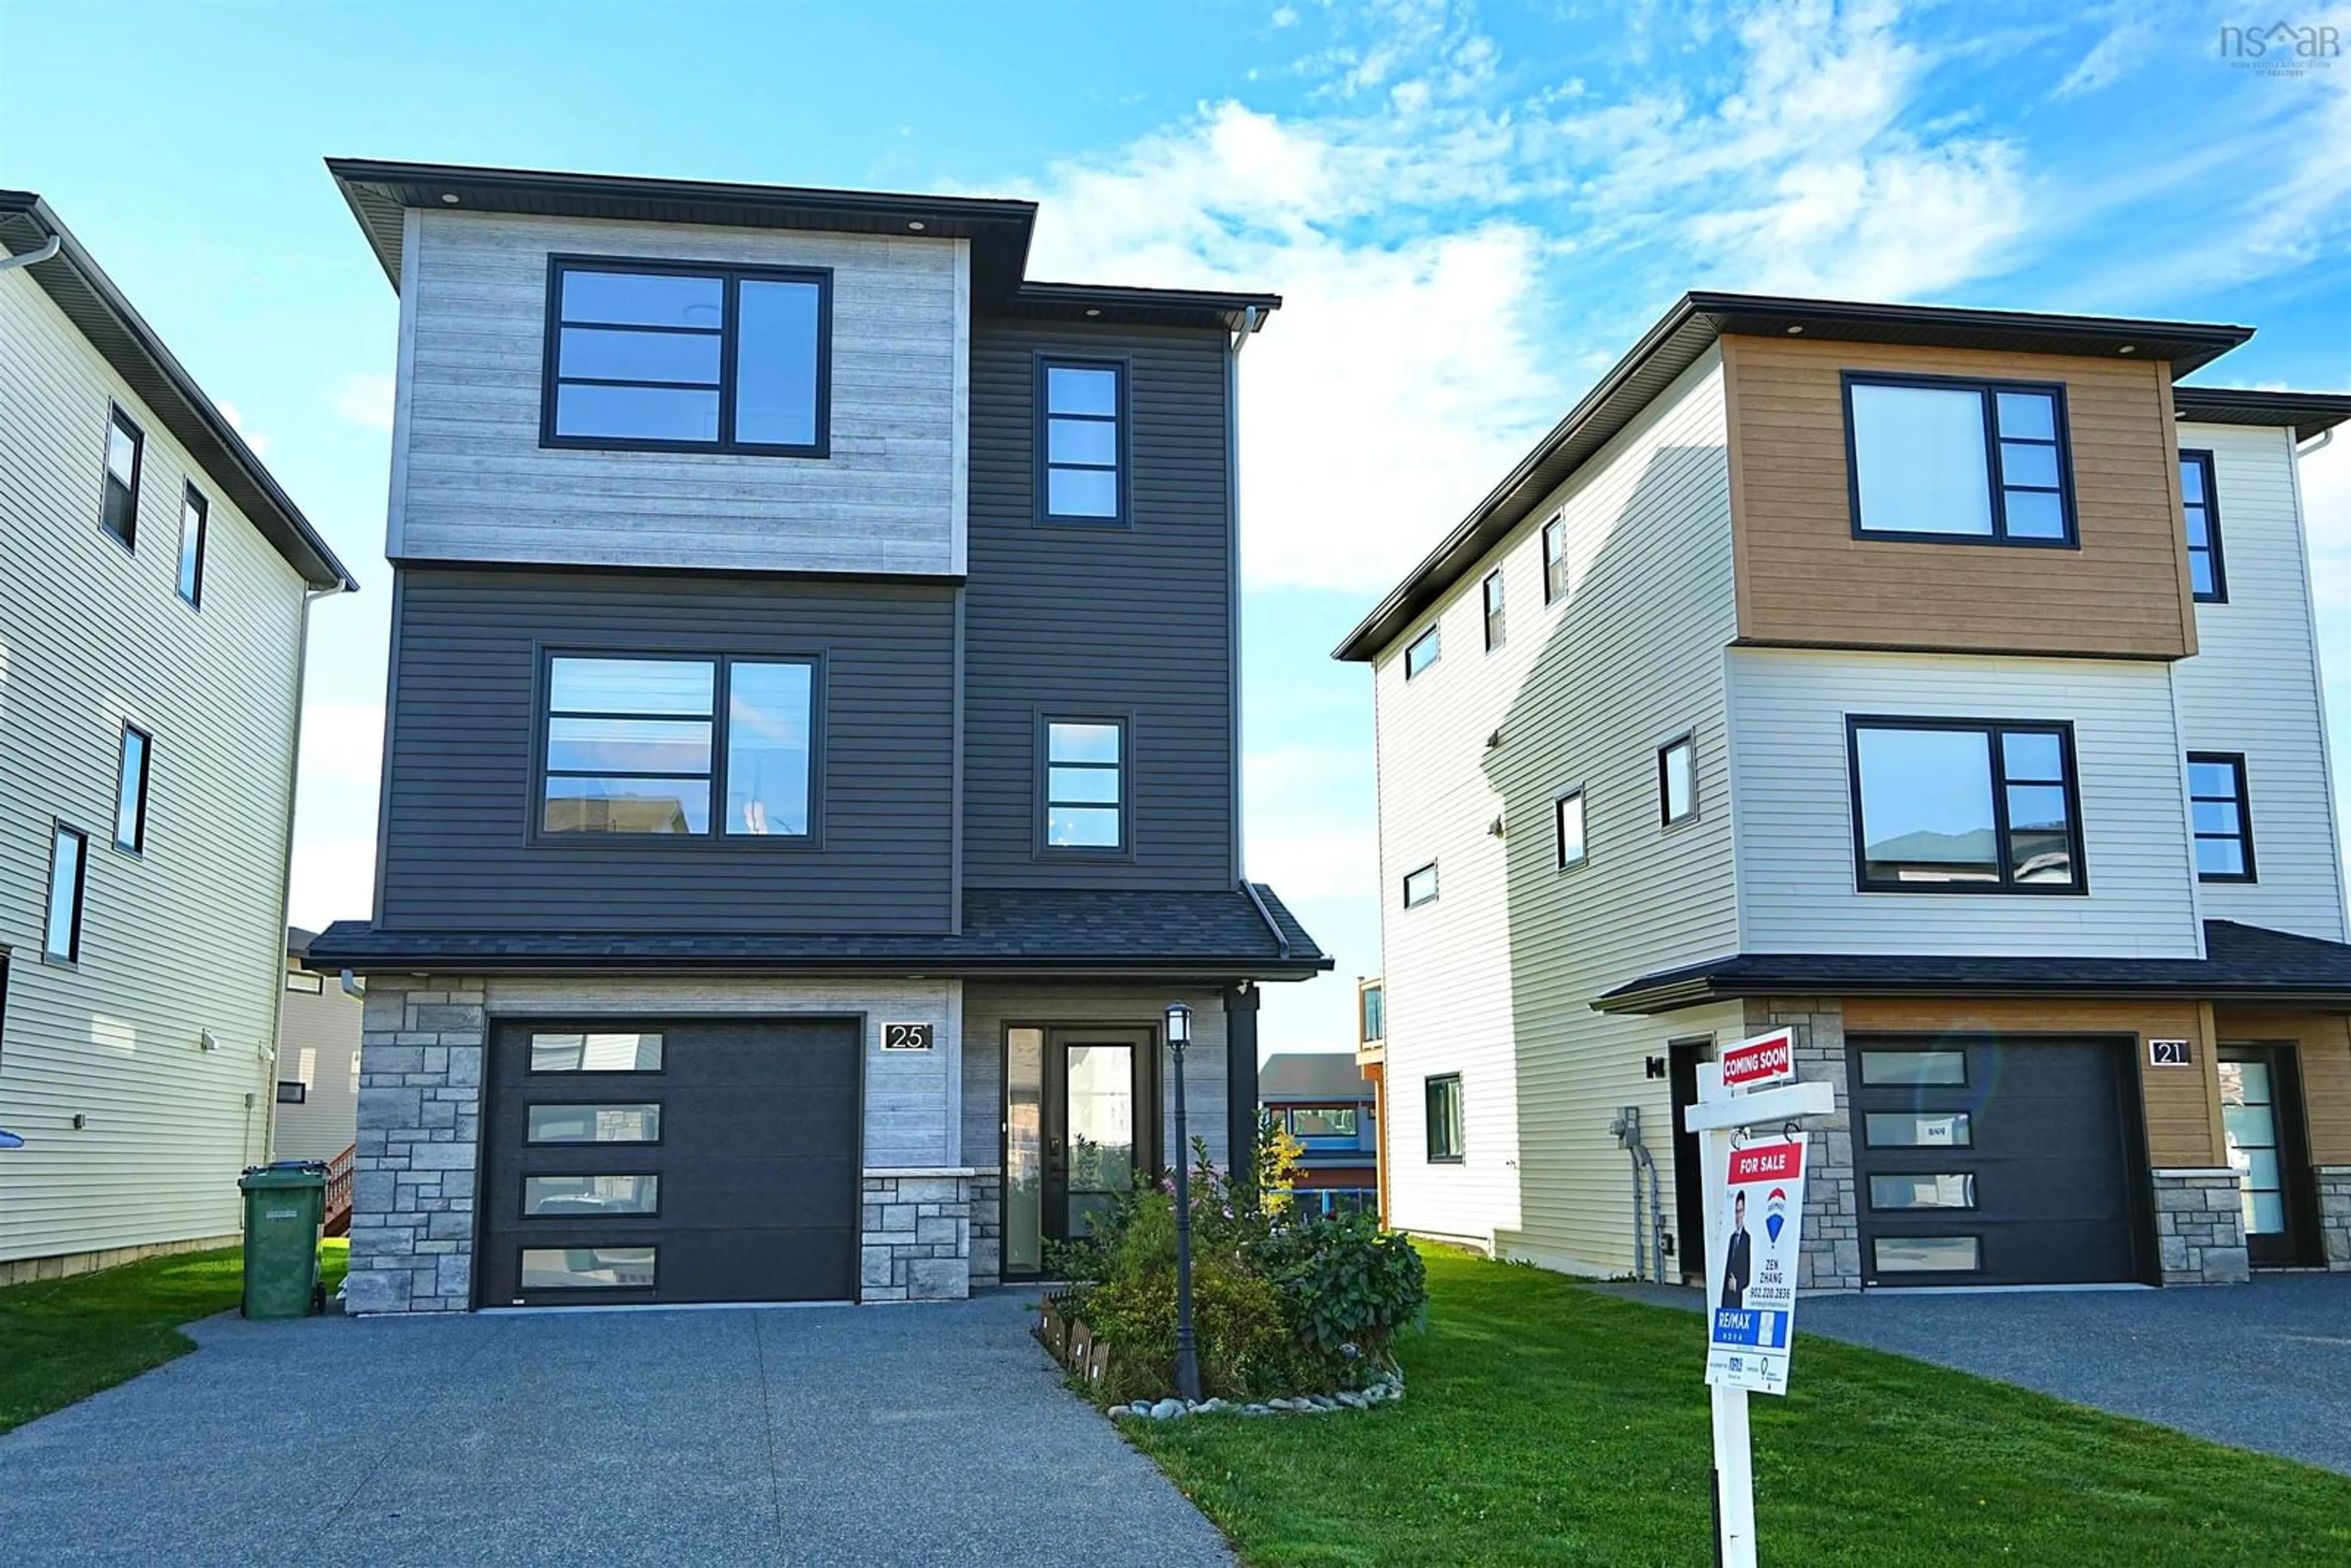
[[(348, 1258), (348, 1241), (327, 1241), (327, 1295)], [(0, 1432), (188, 1354), (195, 1340), (179, 1326), (233, 1312), (242, 1274), (228, 1248), (0, 1291)]]

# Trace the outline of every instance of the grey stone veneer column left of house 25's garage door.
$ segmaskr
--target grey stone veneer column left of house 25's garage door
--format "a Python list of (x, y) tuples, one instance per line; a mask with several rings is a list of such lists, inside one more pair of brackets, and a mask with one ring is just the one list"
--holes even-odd
[(360, 1020), (350, 1312), (473, 1307), (480, 978), (374, 976)]

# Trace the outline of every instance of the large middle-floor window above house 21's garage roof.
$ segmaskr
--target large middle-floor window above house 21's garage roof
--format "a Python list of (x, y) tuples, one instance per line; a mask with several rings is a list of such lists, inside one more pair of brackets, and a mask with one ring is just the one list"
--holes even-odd
[(2071, 724), (1846, 724), (1862, 891), (2085, 891)]

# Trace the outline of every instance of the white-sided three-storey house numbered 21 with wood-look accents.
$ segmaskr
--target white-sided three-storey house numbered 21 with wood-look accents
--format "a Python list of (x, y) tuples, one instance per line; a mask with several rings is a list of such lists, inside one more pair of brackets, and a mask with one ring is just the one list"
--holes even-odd
[(1681, 1112), (1791, 1025), (1806, 1288), (2351, 1267), (2351, 397), (2175, 383), (2248, 336), (1690, 294), (1347, 637), (1394, 1225), (1702, 1281)]

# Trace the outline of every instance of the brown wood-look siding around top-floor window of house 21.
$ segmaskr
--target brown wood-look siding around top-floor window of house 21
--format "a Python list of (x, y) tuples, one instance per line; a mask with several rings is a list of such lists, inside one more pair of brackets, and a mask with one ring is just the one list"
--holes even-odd
[[(2165, 364), (1726, 336), (1723, 367), (1742, 642), (2196, 651)], [(1843, 371), (2064, 386), (2081, 548), (1853, 538)]]

